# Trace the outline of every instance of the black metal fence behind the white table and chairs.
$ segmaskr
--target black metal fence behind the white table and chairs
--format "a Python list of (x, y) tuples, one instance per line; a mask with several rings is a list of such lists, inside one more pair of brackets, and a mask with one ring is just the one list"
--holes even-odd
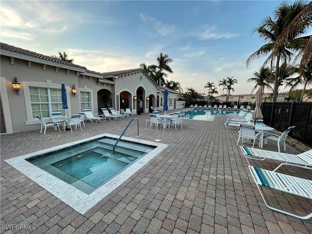
[(263, 121), (284, 132), (296, 126), (289, 136), (312, 147), (312, 102), (263, 102)]

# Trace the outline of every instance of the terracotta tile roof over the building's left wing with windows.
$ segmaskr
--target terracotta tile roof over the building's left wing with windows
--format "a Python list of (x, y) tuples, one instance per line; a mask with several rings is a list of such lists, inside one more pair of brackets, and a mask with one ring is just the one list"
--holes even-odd
[(2, 42), (0, 42), (0, 49), (6, 50), (8, 52), (13, 52), (16, 54), (24, 55), (24, 56), (29, 56), (29, 57), (32, 57), (35, 59), (42, 59), (42, 60), (55, 62), (55, 63), (59, 63), (59, 64), (66, 65), (66, 66), (71, 66), (71, 67), (80, 68), (80, 69), (87, 69), (86, 67), (82, 67), (82, 66), (76, 65), (74, 63), (66, 62), (66, 61), (63, 61), (60, 59), (54, 59), (50, 56), (41, 55), (41, 54), (38, 54), (36, 52), (25, 50), (25, 49), (15, 47), (13, 45), (8, 45), (8, 44), (2, 43)]

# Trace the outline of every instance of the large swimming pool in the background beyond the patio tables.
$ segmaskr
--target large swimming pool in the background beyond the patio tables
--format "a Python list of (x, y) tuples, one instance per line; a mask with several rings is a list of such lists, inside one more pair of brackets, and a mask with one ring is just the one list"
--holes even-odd
[(184, 118), (187, 119), (196, 119), (196, 120), (205, 120), (205, 121), (214, 121), (215, 116), (217, 115), (229, 115), (229, 114), (238, 114), (239, 110), (206, 110), (206, 109), (191, 109), (183, 111)]

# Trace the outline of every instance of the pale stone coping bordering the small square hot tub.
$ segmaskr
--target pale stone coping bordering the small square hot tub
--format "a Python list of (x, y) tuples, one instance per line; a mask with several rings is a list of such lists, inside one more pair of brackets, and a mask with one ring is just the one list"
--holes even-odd
[(57, 151), (66, 147), (70, 147), (79, 143), (83, 143), (85, 141), (94, 140), (100, 137), (111, 137), (111, 138), (119, 138), (117, 135), (112, 134), (101, 134), (94, 137), (88, 137), (85, 139), (69, 142), (63, 145), (51, 147), (48, 149), (40, 150), (37, 152), (33, 152), (30, 154), (6, 159), (5, 161), (10, 164), (12, 167), (17, 169), (20, 173), (30, 178), (32, 181), (37, 183), (39, 186), (47, 190), (52, 195), (58, 197), (61, 201), (65, 202), (67, 205), (72, 207), (74, 210), (79, 212), (81, 215), (86, 213), (89, 209), (91, 209), (94, 205), (96, 205), (101, 199), (103, 199), (106, 195), (109, 195), (112, 191), (114, 191), (119, 185), (121, 185), (126, 179), (136, 173), (140, 168), (142, 168), (147, 162), (149, 162), (152, 158), (158, 155), (162, 150), (164, 150), (168, 145), (157, 143), (153, 141), (147, 141), (137, 138), (131, 137), (121, 137), (122, 140), (129, 140), (135, 143), (147, 144), (156, 146), (154, 150), (150, 153), (139, 159), (137, 162), (133, 163), (131, 166), (123, 170), (114, 178), (110, 179), (103, 186), (98, 188), (96, 191), (92, 192), (90, 195), (87, 195), (77, 188), (73, 187), (70, 184), (62, 181), (61, 179), (53, 176), (46, 171), (40, 169), (39, 167), (33, 165), (32, 163), (26, 161), (26, 158), (46, 154), (52, 151)]

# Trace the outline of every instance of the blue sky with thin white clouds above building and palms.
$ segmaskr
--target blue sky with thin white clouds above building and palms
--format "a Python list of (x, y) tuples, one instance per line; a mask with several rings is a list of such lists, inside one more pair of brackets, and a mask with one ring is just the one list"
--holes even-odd
[[(277, 0), (202, 1), (0, 1), (0, 41), (39, 54), (64, 52), (74, 63), (96, 72), (157, 64), (160, 53), (173, 60), (183, 92), (218, 95), (223, 78), (235, 78), (231, 94), (251, 94), (266, 58), (246, 60), (265, 42), (253, 30), (273, 17)], [(268, 90), (265, 90), (268, 92)]]

